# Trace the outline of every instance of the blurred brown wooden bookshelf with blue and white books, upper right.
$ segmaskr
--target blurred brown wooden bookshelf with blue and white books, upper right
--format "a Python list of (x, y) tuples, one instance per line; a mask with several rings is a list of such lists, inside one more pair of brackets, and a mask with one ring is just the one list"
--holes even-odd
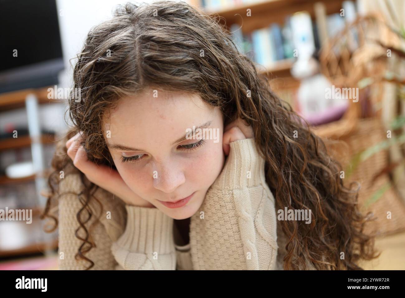
[[(304, 13), (311, 19), (315, 50), (353, 19), (340, 17), (344, 0), (190, 0), (207, 14), (220, 17), (232, 33), (239, 51), (260, 64), (260, 73), (269, 76), (271, 88), (287, 101), (294, 96), (300, 80), (291, 75), (296, 58), (291, 19)], [(347, 10), (352, 11), (352, 9)], [(319, 29), (320, 28), (320, 29)]]

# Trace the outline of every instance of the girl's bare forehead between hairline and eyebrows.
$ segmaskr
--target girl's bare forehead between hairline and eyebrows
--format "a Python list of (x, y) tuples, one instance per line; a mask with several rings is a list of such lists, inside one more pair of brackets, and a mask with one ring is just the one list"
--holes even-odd
[(218, 117), (218, 112), (198, 94), (147, 90), (119, 99), (104, 126), (110, 131), (108, 142), (148, 146), (158, 140), (166, 144), (185, 134), (187, 128)]

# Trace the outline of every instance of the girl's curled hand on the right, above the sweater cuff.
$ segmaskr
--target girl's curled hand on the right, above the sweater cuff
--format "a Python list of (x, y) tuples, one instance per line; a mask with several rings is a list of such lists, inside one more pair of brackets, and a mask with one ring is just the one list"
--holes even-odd
[(224, 136), (222, 137), (222, 146), (224, 148), (225, 155), (229, 154), (230, 143), (243, 139), (251, 139), (254, 137), (252, 126), (238, 118), (232, 121), (224, 128)]

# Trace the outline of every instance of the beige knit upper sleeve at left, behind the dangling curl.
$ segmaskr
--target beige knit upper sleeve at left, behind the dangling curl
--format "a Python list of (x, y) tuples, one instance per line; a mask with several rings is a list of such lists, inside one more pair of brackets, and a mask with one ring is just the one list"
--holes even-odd
[[(83, 204), (78, 193), (83, 189), (83, 184), (79, 178), (79, 174), (66, 176), (59, 187), (58, 201), (58, 269), (59, 270), (85, 270), (91, 262), (94, 266), (90, 270), (115, 270), (117, 262), (111, 253), (111, 244), (123, 232), (124, 217), (123, 202), (119, 199), (113, 199), (108, 196), (108, 193), (103, 189), (99, 189), (94, 196), (102, 201), (104, 211), (109, 211), (108, 216), (100, 214), (99, 204), (90, 204), (88, 208), (92, 209), (92, 217), (88, 218), (86, 211), (81, 212), (81, 221), (87, 229), (87, 233), (80, 226), (77, 220), (79, 210), (83, 208)], [(94, 201), (92, 201), (94, 202)], [(100, 214), (96, 220), (97, 214)], [(79, 247), (85, 242), (81, 239), (86, 239), (95, 244), (90, 251), (83, 253), (87, 259), (77, 258)], [(85, 244), (86, 248), (88, 243)]]

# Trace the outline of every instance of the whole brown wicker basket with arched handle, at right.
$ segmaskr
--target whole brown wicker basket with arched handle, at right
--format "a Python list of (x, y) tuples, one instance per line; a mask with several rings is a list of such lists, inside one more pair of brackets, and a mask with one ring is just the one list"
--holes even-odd
[[(355, 34), (357, 43), (354, 42)], [(378, 36), (385, 39), (378, 40)], [(386, 56), (386, 49), (381, 44), (386, 44), (390, 38), (397, 36), (379, 16), (359, 17), (322, 48), (321, 71), (335, 87), (340, 88), (357, 87), (363, 77), (381, 80), (386, 67), (382, 59), (382, 54)], [(360, 90), (358, 102), (350, 101), (341, 120), (313, 127), (313, 131), (325, 140), (329, 154), (342, 164), (343, 169), (350, 169), (350, 161), (359, 152), (387, 140), (386, 130), (377, 116), (362, 118), (361, 104), (367, 101), (366, 92)], [(377, 152), (358, 163), (350, 177), (345, 178), (346, 185), (353, 181), (360, 182), (360, 209), (374, 213), (376, 220), (366, 226), (367, 233), (393, 234), (405, 230), (405, 205), (393, 187), (371, 202), (373, 195), (383, 191), (390, 183), (388, 174), (379, 175), (373, 180), (388, 165), (388, 160), (388, 151)], [(387, 218), (387, 212), (391, 212), (391, 219)]]

